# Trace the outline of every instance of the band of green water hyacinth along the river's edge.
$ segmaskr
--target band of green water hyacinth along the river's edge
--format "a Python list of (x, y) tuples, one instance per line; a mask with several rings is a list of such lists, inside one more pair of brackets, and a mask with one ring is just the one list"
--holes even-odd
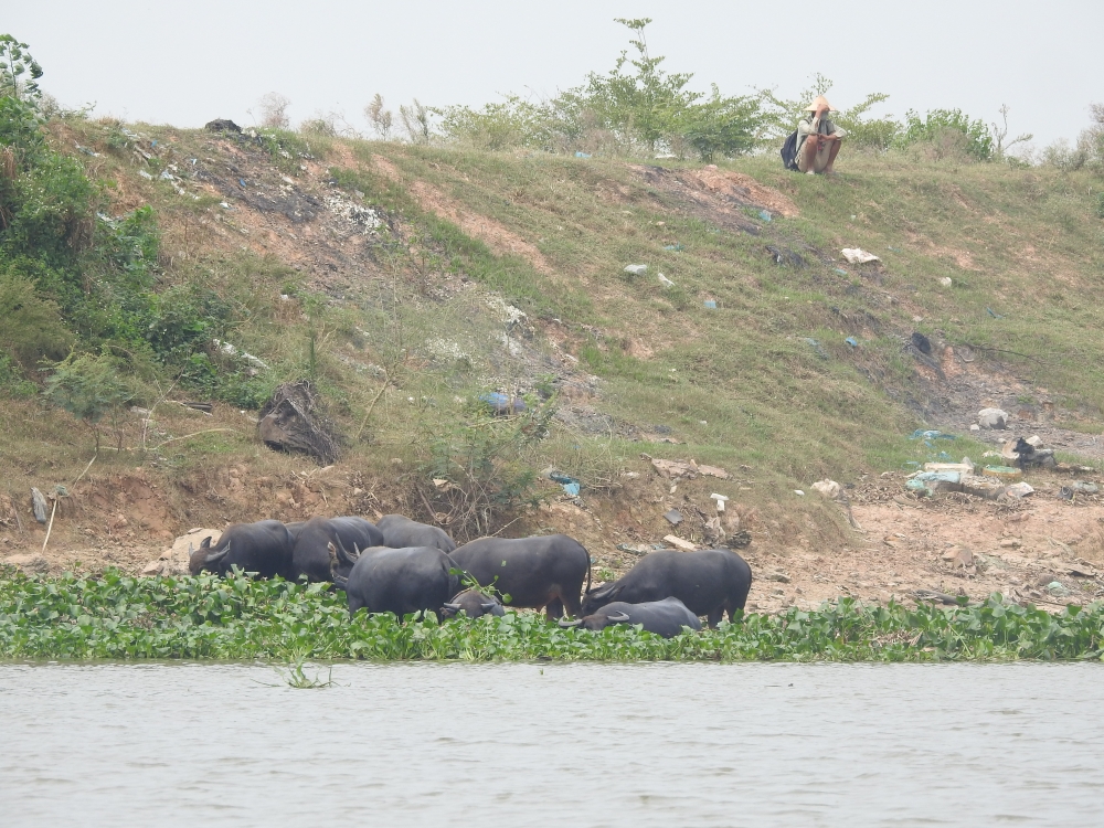
[(592, 661), (1101, 659), (1104, 605), (1051, 615), (994, 594), (977, 606), (866, 606), (749, 614), (671, 639), (624, 625), (562, 629), (534, 613), (438, 625), (360, 613), (328, 584), (220, 578), (0, 577), (0, 658)]

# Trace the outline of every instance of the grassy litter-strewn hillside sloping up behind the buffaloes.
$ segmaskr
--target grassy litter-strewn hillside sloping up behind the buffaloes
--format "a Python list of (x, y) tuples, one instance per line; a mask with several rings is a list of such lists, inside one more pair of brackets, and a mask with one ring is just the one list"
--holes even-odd
[[(169, 330), (185, 308), (182, 328), (204, 326), (180, 351), (115, 353), (128, 405), (158, 407), (152, 423), (100, 422), (89, 479), (140, 466), (192, 491), (212, 469), (309, 475), (309, 460), (265, 449), (242, 412), (310, 376), (357, 490), (397, 491), (393, 507), (452, 516), (465, 531), (559, 496), (540, 477), (555, 468), (582, 480), (584, 503), (639, 510), (639, 537), (661, 535), (667, 484), (645, 491), (624, 477), (647, 471), (644, 454), (729, 469), (725, 491), (761, 516), (764, 543), (799, 532), (842, 543), (839, 516), (792, 490), (922, 459), (909, 437), (938, 423), (964, 354), (973, 371), (1020, 381), (1020, 402), (1048, 397), (1068, 425), (1104, 428), (1104, 180), (1089, 171), (845, 150), (828, 179), (773, 156), (657, 170), (115, 121), (49, 129), (97, 183), (108, 219), (152, 208), (150, 290), (171, 299), (159, 323)], [(849, 265), (842, 247), (882, 263)], [(630, 264), (647, 270), (630, 275)], [(910, 344), (914, 332), (932, 354)], [(94, 440), (38, 393), (49, 371), (18, 354), (6, 364), (0, 456), (21, 502), (44, 479), (72, 482)], [(526, 396), (530, 413), (491, 418), (478, 396), (493, 390)], [(170, 402), (197, 399), (215, 401), (213, 417)], [(181, 506), (176, 519), (283, 507), (204, 508)], [(549, 523), (533, 514), (519, 528)]]

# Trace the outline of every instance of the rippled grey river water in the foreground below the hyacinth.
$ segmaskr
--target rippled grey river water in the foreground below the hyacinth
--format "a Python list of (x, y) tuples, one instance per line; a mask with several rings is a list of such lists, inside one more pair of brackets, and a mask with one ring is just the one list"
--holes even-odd
[(4, 826), (1100, 825), (1091, 665), (0, 666)]

